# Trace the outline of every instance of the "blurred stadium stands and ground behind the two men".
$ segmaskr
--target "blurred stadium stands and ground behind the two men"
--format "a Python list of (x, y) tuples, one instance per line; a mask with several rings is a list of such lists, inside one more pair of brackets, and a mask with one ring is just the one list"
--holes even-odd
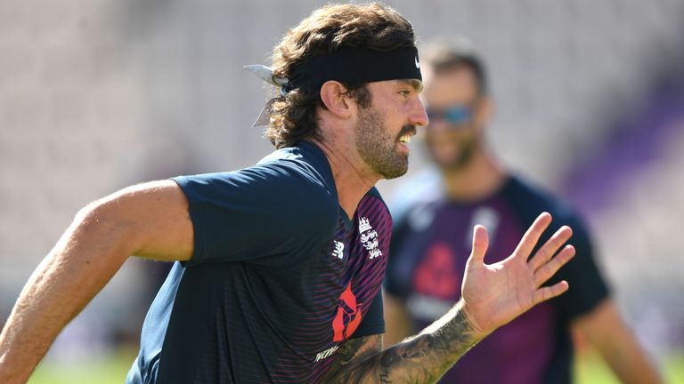
[[(270, 152), (252, 128), (268, 90), (242, 66), (266, 64), (321, 4), (0, 2), (0, 324), (85, 204)], [(387, 4), (422, 41), (467, 36), (479, 47), (498, 106), (488, 130), (496, 152), (580, 209), (623, 315), (670, 380), (684, 382), (684, 2)], [(421, 144), (411, 144), (410, 174), (426, 164)], [(400, 183), (379, 188), (391, 200)], [(109, 372), (123, 381), (166, 268), (128, 261), (32, 382), (109, 382)], [(580, 381), (613, 380), (581, 353)]]

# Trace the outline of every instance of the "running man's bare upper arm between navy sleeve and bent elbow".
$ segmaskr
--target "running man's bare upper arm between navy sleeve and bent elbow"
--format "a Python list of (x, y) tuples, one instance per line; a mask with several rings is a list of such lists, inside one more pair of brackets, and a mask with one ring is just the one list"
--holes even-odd
[(129, 254), (154, 260), (189, 260), (193, 251), (188, 201), (173, 180), (124, 188), (90, 204), (84, 221), (123, 234)]

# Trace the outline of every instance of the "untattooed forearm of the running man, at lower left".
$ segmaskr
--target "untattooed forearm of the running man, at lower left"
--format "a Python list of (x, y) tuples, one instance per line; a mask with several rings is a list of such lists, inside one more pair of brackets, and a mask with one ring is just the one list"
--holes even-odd
[[(61, 329), (107, 284), (129, 253), (122, 227), (79, 212), (30, 276), (0, 334), (0, 382), (25, 382)], [(133, 242), (132, 242), (133, 243)]]

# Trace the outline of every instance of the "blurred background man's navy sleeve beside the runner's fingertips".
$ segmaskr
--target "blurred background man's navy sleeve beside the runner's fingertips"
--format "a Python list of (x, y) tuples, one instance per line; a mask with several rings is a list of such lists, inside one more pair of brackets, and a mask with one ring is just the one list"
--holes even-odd
[(573, 244), (575, 256), (558, 270), (550, 284), (566, 280), (570, 285), (570, 289), (553, 302), (561, 316), (571, 320), (596, 308), (607, 298), (609, 290), (599, 271), (587, 228), (576, 218), (566, 221), (566, 225), (573, 229), (573, 237), (568, 243)]

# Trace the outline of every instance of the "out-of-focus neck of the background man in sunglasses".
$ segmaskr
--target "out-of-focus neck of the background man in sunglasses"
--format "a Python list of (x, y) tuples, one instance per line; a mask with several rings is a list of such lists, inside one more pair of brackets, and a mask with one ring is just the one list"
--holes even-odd
[(485, 148), (461, 168), (442, 169), (442, 175), (446, 195), (464, 202), (492, 196), (507, 179), (506, 172)]

